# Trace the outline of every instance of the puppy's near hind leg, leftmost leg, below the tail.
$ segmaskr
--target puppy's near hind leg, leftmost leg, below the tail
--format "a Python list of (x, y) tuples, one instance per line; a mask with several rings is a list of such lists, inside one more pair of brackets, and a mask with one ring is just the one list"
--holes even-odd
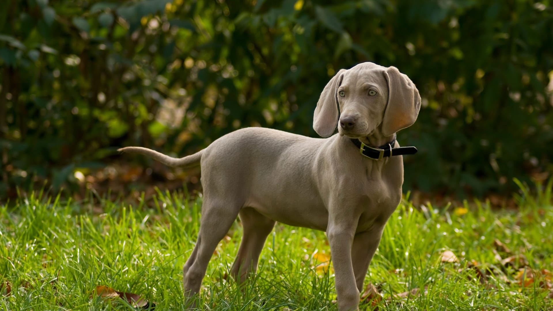
[[(200, 291), (207, 264), (217, 244), (225, 237), (236, 220), (240, 208), (241, 206), (232, 205), (228, 201), (210, 200), (207, 197), (204, 199), (198, 240), (190, 258), (182, 268), (185, 299)], [(194, 307), (190, 301), (185, 301), (185, 304), (188, 308)]]

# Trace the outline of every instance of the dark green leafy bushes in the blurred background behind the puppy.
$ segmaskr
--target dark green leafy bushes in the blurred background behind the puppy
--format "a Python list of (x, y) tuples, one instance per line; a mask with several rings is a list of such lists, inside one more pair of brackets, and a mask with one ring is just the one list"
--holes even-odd
[[(316, 137), (321, 90), (362, 61), (421, 93), (398, 133), (419, 149), (405, 190), (506, 194), (552, 171), (547, 0), (3, 0), (0, 33), (0, 198), (106, 178), (121, 146), (182, 156), (248, 126)], [(157, 169), (130, 170), (122, 183)]]

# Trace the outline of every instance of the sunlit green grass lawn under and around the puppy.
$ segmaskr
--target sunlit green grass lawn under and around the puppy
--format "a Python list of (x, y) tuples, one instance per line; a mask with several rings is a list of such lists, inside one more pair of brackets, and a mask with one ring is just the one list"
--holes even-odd
[[(152, 200), (155, 208), (144, 200), (135, 206), (101, 199), (62, 202), (33, 193), (1, 206), (0, 284), (11, 284), (11, 293), (2, 297), (6, 287), (0, 289), (0, 310), (132, 309), (123, 300), (92, 295), (96, 286), (140, 294), (156, 310), (182, 309), (181, 269), (196, 240), (202, 200), (184, 193), (158, 193)], [(551, 183), (533, 196), (523, 187), (517, 200), (518, 210), (493, 211), (476, 201), (467, 204), (466, 214), (463, 206), (415, 207), (404, 201), (386, 226), (365, 281), (384, 298), (378, 308), (553, 309), (546, 288), (551, 274), (542, 271), (534, 273), (534, 282), (519, 282), (533, 269), (553, 270)], [(240, 237), (235, 222), (208, 267), (202, 309), (336, 309), (333, 270), (316, 267), (327, 255), (314, 256), (330, 253), (323, 232), (276, 226), (259, 273), (242, 291), (226, 278)], [(459, 262), (442, 262), (444, 250)], [(503, 265), (500, 260), (509, 256), (519, 258)], [(393, 296), (424, 287), (418, 296)]]

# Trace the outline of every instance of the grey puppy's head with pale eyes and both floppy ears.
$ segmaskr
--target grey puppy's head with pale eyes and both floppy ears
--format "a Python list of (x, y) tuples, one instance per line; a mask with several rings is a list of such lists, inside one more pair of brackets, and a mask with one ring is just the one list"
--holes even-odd
[(415, 123), (420, 100), (413, 82), (397, 68), (361, 63), (338, 71), (325, 86), (315, 108), (313, 128), (322, 137), (331, 136), (336, 126), (341, 135), (350, 138), (377, 131), (391, 136)]

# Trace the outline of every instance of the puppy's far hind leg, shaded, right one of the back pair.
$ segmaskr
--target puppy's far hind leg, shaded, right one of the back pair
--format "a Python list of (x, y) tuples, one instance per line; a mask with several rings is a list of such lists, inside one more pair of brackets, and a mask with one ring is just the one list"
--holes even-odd
[(232, 265), (231, 275), (238, 283), (243, 283), (250, 272), (257, 271), (259, 255), (267, 236), (273, 231), (275, 221), (252, 208), (241, 209), (239, 215), (244, 233), (236, 260)]

